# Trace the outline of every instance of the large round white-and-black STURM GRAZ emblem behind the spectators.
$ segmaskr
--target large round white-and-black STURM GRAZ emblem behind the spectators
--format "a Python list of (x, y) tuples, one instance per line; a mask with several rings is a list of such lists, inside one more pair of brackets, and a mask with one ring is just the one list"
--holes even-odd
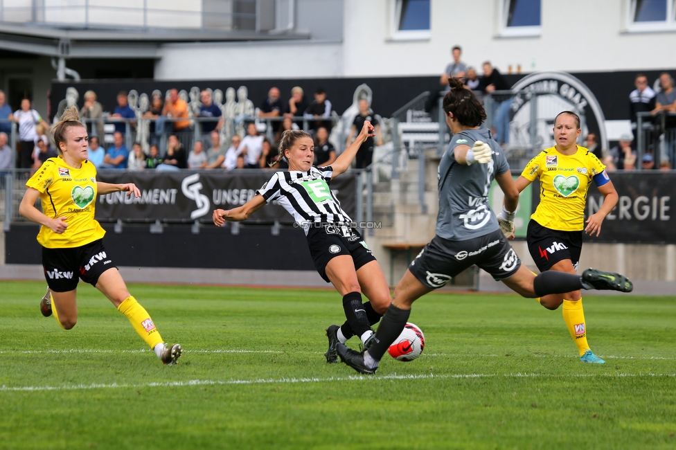
[[(608, 147), (605, 116), (598, 100), (584, 83), (565, 72), (536, 72), (519, 80), (510, 100), (510, 147), (544, 149), (554, 145), (554, 118), (561, 111), (580, 116), (582, 133), (598, 133), (601, 148)], [(533, 121), (535, 128), (531, 127)]]

